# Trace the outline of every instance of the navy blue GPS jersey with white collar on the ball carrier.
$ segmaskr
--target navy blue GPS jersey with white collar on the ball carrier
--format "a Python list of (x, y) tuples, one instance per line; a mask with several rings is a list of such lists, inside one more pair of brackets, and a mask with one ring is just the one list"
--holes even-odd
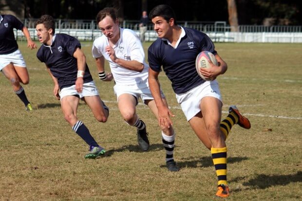
[(185, 93), (205, 82), (195, 68), (195, 59), (201, 51), (217, 54), (211, 39), (195, 29), (185, 28), (186, 35), (174, 49), (166, 40), (158, 38), (148, 49), (148, 62), (155, 72), (163, 70), (172, 82), (175, 93)]

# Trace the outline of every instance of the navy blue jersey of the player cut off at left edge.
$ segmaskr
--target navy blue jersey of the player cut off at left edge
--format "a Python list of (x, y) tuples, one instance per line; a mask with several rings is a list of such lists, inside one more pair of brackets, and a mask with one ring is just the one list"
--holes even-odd
[(24, 24), (12, 15), (1, 15), (0, 23), (0, 55), (7, 55), (18, 50), (14, 28), (22, 30)]

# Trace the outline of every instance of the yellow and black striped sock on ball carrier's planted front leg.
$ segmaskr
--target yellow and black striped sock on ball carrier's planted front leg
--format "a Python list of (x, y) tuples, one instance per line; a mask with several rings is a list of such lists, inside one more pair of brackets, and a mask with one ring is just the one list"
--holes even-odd
[(218, 185), (227, 185), (227, 147), (211, 148), (213, 163), (218, 177)]

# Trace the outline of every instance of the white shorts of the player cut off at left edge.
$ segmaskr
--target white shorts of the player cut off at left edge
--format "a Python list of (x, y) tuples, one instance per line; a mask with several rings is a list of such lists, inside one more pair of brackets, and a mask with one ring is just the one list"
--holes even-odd
[(0, 55), (0, 71), (10, 63), (14, 66), (26, 68), (24, 58), (19, 50), (7, 55)]

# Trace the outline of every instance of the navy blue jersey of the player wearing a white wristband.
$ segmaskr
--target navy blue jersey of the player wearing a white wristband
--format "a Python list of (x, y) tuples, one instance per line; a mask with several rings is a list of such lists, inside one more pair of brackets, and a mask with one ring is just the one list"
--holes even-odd
[[(67, 34), (56, 34), (51, 46), (41, 45), (37, 57), (50, 69), (57, 78), (60, 89), (76, 84), (77, 60), (73, 56), (76, 48), (81, 48), (80, 42)], [(93, 81), (86, 63), (84, 83)]]

